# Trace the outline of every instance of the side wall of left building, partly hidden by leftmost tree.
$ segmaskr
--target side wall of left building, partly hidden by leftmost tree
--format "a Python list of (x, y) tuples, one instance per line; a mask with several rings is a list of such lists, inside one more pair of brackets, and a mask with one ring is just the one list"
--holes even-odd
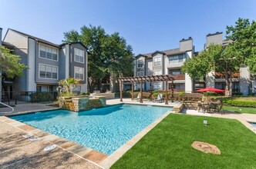
[[(3, 41), (15, 46), (14, 53), (21, 57), (21, 63), (28, 65), (28, 44), (27, 37), (19, 35), (15, 31), (8, 30)], [(16, 78), (14, 81), (13, 91), (27, 91), (27, 75), (29, 69), (23, 71), (23, 76)]]

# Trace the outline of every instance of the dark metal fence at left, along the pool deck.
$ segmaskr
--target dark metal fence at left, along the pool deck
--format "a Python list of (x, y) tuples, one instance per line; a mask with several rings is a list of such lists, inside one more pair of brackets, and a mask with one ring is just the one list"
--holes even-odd
[(20, 91), (20, 92), (0, 92), (2, 102), (8, 105), (22, 103), (39, 103), (43, 101), (56, 101), (57, 92)]

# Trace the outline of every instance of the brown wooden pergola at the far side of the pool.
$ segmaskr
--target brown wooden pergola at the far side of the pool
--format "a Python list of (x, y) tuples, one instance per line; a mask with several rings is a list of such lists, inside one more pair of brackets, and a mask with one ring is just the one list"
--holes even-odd
[(156, 81), (165, 81), (165, 104), (168, 104), (168, 81), (172, 81), (171, 85), (171, 101), (173, 101), (173, 80), (174, 78), (171, 75), (150, 75), (150, 76), (136, 76), (136, 77), (124, 77), (118, 78), (120, 81), (120, 101), (123, 101), (122, 95), (122, 88), (123, 88), (123, 81), (130, 81), (132, 83), (132, 100), (133, 100), (133, 89), (134, 89), (134, 82), (140, 81), (140, 103), (143, 103), (143, 92), (142, 92), (142, 85), (144, 81), (150, 82), (150, 92), (152, 97), (152, 82)]

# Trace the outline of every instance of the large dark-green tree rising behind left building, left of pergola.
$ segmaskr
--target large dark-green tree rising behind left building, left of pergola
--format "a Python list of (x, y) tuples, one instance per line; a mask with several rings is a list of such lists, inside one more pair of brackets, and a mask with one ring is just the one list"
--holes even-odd
[(129, 75), (133, 72), (133, 49), (115, 32), (112, 35), (98, 26), (83, 26), (80, 33), (75, 30), (64, 33), (64, 42), (82, 41), (87, 46), (88, 76), (92, 82), (90, 91), (100, 88), (106, 75)]

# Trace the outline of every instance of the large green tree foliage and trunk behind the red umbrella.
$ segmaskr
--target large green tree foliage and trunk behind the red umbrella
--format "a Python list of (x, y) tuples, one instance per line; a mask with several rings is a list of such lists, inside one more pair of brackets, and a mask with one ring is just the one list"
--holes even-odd
[(198, 56), (185, 61), (182, 71), (191, 78), (205, 78), (207, 73), (221, 73), (226, 81), (226, 95), (232, 94), (232, 78), (241, 65), (248, 65), (256, 73), (256, 23), (238, 18), (234, 26), (227, 26), (228, 45), (209, 45)]

